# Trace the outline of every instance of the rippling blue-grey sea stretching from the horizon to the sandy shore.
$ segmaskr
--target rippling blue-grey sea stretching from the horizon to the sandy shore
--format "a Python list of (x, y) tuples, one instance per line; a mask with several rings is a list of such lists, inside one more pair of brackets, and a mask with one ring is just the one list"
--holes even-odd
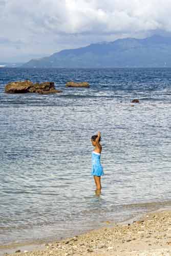
[[(4, 93), (24, 79), (54, 81), (63, 93)], [(91, 87), (65, 88), (70, 80)], [(70, 237), (170, 207), (170, 84), (171, 69), (1, 69), (0, 245)], [(99, 197), (90, 176), (98, 130)]]

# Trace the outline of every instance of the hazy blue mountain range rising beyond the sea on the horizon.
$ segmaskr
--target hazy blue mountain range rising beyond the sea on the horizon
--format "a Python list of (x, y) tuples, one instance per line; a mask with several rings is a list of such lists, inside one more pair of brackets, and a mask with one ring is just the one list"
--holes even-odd
[(124, 38), (32, 59), (23, 68), (171, 67), (171, 37)]

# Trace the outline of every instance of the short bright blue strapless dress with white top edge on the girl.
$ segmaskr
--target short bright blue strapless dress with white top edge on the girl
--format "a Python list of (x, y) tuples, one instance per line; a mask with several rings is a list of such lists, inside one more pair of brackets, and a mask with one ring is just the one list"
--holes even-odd
[(100, 163), (100, 153), (92, 152), (92, 175), (93, 176), (103, 176), (103, 167)]

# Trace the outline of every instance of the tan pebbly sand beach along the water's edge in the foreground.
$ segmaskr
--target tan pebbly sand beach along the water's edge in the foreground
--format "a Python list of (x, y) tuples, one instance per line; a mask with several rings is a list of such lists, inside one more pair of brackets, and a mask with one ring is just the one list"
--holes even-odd
[(124, 225), (106, 222), (106, 227), (101, 229), (54, 241), (42, 250), (21, 250), (15, 255), (168, 256), (171, 255), (171, 210), (146, 214), (139, 221)]

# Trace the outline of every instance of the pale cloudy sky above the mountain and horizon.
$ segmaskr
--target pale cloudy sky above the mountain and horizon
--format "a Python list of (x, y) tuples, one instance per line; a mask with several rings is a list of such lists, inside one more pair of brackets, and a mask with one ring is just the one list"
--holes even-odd
[(0, 0), (0, 61), (170, 33), (170, 0)]

